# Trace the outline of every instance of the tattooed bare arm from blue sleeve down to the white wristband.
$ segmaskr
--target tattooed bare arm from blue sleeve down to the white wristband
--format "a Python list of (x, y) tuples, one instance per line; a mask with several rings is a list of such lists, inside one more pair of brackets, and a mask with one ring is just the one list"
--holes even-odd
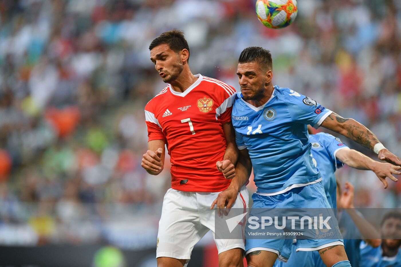
[(322, 126), (346, 136), (372, 151), (375, 144), (380, 143), (375, 134), (367, 127), (354, 119), (344, 119), (334, 112), (324, 119)]

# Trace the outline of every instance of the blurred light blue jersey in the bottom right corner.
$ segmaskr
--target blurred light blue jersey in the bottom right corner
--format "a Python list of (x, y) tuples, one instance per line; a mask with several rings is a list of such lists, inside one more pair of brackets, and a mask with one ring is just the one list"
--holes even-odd
[(360, 243), (360, 266), (363, 267), (401, 267), (401, 249), (394, 257), (383, 256), (381, 245), (371, 247), (364, 241)]

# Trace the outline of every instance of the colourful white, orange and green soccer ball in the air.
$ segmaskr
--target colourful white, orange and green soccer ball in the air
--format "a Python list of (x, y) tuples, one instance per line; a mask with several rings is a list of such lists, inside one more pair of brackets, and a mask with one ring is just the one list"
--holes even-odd
[(268, 28), (279, 29), (290, 25), (298, 13), (296, 0), (257, 0), (256, 14)]

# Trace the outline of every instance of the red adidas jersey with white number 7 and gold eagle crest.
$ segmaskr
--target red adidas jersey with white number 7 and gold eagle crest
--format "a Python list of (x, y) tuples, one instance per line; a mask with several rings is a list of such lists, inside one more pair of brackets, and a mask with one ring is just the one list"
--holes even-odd
[(184, 92), (169, 84), (146, 104), (148, 140), (165, 140), (173, 189), (220, 192), (230, 184), (216, 162), (226, 150), (222, 124), (231, 121), (235, 89), (200, 74), (195, 77)]

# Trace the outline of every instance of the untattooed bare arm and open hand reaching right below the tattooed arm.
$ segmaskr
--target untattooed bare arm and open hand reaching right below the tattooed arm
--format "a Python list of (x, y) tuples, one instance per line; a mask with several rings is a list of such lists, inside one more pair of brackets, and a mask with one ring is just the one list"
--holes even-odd
[(399, 172), (399, 170), (401, 170), (400, 166), (395, 166), (390, 163), (377, 162), (353, 149), (338, 150), (336, 153), (336, 158), (351, 168), (373, 171), (379, 180), (384, 184), (384, 188), (387, 188), (388, 186), (386, 177), (389, 177), (394, 182), (397, 182), (398, 179), (395, 178), (393, 174), (401, 174), (401, 172)]

